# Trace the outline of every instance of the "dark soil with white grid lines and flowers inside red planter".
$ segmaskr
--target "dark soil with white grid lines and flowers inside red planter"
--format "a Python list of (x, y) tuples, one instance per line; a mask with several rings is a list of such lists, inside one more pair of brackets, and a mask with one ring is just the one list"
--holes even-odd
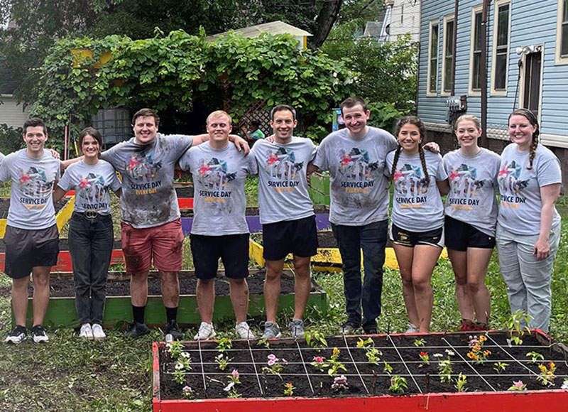
[[(446, 393), (457, 392), (459, 374), (465, 376), (462, 391), (507, 391), (518, 381), (526, 385), (526, 390), (540, 391), (560, 389), (567, 379), (567, 348), (540, 331), (525, 335), (522, 345), (511, 344), (508, 332), (484, 332), (487, 340), (482, 342), (482, 349), (491, 354), (482, 363), (468, 357), (470, 336), (464, 332), (372, 335), (371, 341), (368, 337), (328, 337), (327, 345), (322, 347), (309, 347), (305, 340), (282, 339), (269, 341), (268, 348), (258, 341), (235, 340), (223, 352), (229, 359), (224, 370), (219, 369), (216, 361), (222, 353), (217, 342), (183, 342), (182, 354), (173, 353), (170, 346), (160, 342), (155, 344), (159, 349), (159, 383), (154, 383), (159, 392), (154, 395), (162, 400), (187, 399), (184, 388), (188, 386), (192, 399), (226, 398), (233, 389), (234, 394), (243, 398), (275, 398), (285, 396), (286, 384), (292, 384), (293, 396), (300, 397)], [(376, 363), (369, 362), (367, 355), (373, 348)], [(345, 368), (338, 369), (336, 376), (329, 374), (334, 351), (339, 353), (336, 362)], [(427, 362), (422, 359), (424, 354), (429, 357)], [(184, 356), (190, 359), (190, 369), (180, 366), (178, 359)], [(534, 356), (537, 359), (533, 361)], [(271, 357), (282, 365), (279, 376), (267, 369)], [(321, 371), (314, 366), (317, 360), (327, 365)], [(448, 360), (449, 379), (441, 379), (444, 373), (440, 372), (440, 362)], [(498, 371), (496, 365), (500, 362), (506, 367)], [(540, 365), (549, 368), (550, 362), (555, 364), (555, 379), (542, 383), (537, 379), (542, 372)], [(182, 383), (174, 379), (176, 365)], [(392, 369), (387, 371), (388, 367)], [(228, 391), (226, 387), (234, 369), (238, 371), (240, 384)], [(346, 388), (332, 389), (335, 377), (341, 375), (346, 377)], [(393, 392), (393, 376), (404, 378), (408, 388)]]

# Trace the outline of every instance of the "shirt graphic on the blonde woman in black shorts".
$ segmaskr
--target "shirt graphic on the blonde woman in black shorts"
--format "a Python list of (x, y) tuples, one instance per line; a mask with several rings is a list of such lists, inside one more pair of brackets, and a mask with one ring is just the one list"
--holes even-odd
[(449, 173), (450, 187), (455, 196), (449, 198), (453, 209), (471, 210), (479, 205), (479, 189), (485, 185), (485, 180), (477, 179), (477, 169), (464, 163)]

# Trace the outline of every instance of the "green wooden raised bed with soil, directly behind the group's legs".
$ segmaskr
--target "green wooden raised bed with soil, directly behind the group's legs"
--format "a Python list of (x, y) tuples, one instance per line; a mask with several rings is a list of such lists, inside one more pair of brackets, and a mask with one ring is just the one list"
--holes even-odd
[[(249, 316), (260, 316), (264, 313), (264, 271), (251, 270), (247, 278), (249, 283)], [(233, 307), (229, 297), (229, 281), (223, 278), (222, 272), (215, 282), (215, 309), (214, 320), (233, 318)], [(181, 271), (180, 303), (178, 308), (178, 322), (182, 326), (196, 325), (201, 321), (197, 310), (195, 297), (195, 278), (193, 271)], [(294, 307), (294, 279), (290, 271), (285, 271), (281, 279), (281, 293), (278, 300), (278, 311), (290, 310)], [(1, 289), (1, 288), (0, 288)], [(2, 295), (9, 294), (9, 287)], [(32, 321), (33, 289), (28, 289), (28, 325)], [(312, 291), (307, 303), (312, 308), (325, 312), (329, 307), (327, 294), (316, 283), (312, 283)], [(107, 300), (104, 308), (104, 326), (114, 326), (121, 322), (131, 322), (132, 307), (130, 300), (130, 277), (124, 272), (109, 272), (107, 280)], [(12, 314), (12, 322), (13, 314)], [(157, 272), (152, 271), (148, 277), (148, 303), (146, 304), (146, 323), (148, 325), (163, 325), (165, 323), (165, 310), (161, 298), (160, 278)], [(72, 273), (54, 272), (50, 277), (50, 301), (48, 311), (45, 313), (44, 325), (48, 326), (77, 326), (77, 313), (75, 311), (75, 288)]]

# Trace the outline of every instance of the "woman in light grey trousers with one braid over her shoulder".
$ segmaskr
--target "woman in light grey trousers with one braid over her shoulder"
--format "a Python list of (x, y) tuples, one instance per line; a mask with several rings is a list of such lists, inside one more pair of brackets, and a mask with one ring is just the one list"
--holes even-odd
[(530, 327), (548, 332), (552, 266), (560, 242), (560, 162), (538, 143), (535, 114), (518, 109), (509, 115), (513, 144), (501, 154), (498, 175), (501, 205), (497, 219), (497, 250), (507, 284), (511, 313), (532, 316)]

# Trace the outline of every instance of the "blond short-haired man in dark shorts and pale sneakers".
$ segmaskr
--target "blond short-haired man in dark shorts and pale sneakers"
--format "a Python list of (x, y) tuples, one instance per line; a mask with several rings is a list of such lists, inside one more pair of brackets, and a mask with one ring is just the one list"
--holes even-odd
[(190, 148), (180, 159), (182, 170), (191, 170), (195, 189), (190, 240), (201, 315), (196, 340), (215, 336), (213, 308), (219, 258), (229, 278), (236, 334), (242, 339), (254, 339), (246, 322), (249, 227), (244, 184), (247, 174), (256, 174), (256, 161), (229, 143), (231, 121), (231, 116), (222, 110), (209, 114), (209, 141)]

